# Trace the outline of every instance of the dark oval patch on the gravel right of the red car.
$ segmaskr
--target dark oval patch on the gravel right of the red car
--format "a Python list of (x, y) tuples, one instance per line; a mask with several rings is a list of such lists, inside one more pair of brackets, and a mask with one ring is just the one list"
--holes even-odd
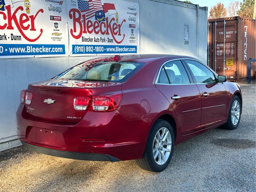
[(248, 149), (248, 148), (255, 148), (255, 141), (248, 140), (248, 139), (215, 139), (212, 140), (212, 143), (226, 147), (230, 149)]

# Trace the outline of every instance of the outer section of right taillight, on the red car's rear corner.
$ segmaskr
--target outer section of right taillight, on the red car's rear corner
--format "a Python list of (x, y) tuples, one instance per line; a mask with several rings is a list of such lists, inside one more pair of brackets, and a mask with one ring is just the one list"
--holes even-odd
[(120, 104), (122, 94), (93, 96), (92, 110), (97, 112), (114, 111)]

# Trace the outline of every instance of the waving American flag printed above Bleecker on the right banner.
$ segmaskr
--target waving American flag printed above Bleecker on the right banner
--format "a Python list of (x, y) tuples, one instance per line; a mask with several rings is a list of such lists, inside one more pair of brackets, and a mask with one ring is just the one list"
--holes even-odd
[(86, 19), (95, 16), (95, 12), (103, 10), (101, 0), (78, 0), (78, 9), (86, 14)]

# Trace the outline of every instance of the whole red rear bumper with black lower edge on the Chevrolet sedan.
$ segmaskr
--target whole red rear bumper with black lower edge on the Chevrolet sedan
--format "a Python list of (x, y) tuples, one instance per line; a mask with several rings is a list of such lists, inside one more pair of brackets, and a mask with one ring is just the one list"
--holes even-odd
[(18, 138), (29, 149), (64, 158), (118, 161), (142, 158), (154, 118), (127, 120), (118, 110), (88, 112), (72, 125), (27, 118), (21, 104), (16, 120)]

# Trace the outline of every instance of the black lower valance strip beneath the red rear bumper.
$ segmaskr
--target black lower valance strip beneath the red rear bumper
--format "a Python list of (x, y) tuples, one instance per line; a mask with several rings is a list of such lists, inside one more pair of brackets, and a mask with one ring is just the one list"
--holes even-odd
[(40, 147), (33, 144), (28, 144), (26, 142), (21, 141), (21, 143), (28, 148), (29, 150), (36, 151), (38, 153), (43, 153), (46, 155), (63, 157), (69, 159), (78, 159), (78, 160), (88, 160), (88, 161), (120, 161), (120, 159), (115, 158), (108, 154), (95, 154), (95, 153), (79, 153), (79, 152), (70, 152), (63, 150), (54, 150), (50, 148)]

